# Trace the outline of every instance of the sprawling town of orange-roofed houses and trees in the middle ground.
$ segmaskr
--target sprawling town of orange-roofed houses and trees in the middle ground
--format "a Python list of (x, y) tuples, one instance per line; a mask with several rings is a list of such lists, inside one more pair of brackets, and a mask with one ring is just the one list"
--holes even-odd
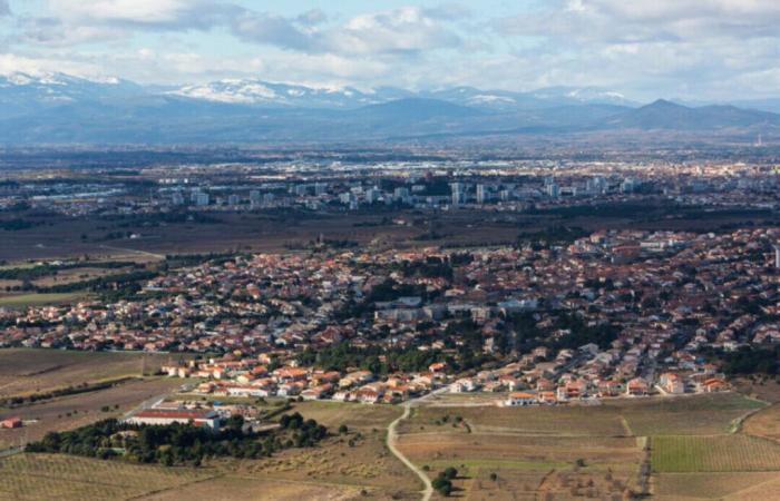
[[(607, 230), (567, 244), (234, 256), (160, 273), (136, 299), (0, 310), (0, 345), (224, 354), (165, 367), (217, 395), (392, 402), (448, 385), (525, 403), (721, 391), (719, 353), (780, 341), (778, 240), (759, 227)], [(300, 363), (343, 345), (373, 358)]]

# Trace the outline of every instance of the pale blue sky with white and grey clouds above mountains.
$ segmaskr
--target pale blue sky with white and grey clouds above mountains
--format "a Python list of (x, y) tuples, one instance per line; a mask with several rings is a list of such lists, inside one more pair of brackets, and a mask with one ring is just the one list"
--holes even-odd
[(778, 0), (0, 0), (0, 73), (780, 96)]

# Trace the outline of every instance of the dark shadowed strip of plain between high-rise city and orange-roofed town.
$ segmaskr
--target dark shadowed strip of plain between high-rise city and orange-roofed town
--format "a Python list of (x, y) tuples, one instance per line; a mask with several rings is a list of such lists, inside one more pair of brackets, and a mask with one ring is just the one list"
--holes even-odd
[[(750, 215), (710, 213), (708, 217), (677, 215), (667, 218), (664, 210), (654, 215), (643, 214), (641, 220), (616, 214), (614, 217), (577, 216), (560, 218), (555, 215), (530, 215), (497, 213), (490, 210), (461, 209), (436, 215), (398, 210), (380, 214), (269, 214), (269, 213), (207, 213), (214, 223), (172, 223), (144, 225), (143, 219), (130, 226), (116, 226), (100, 219), (75, 219), (47, 217), (40, 226), (18, 232), (0, 230), (0, 261), (28, 258), (69, 257), (88, 254), (110, 257), (135, 254), (159, 258), (163, 254), (191, 254), (224, 252), (227, 249), (280, 252), (287, 245), (301, 245), (323, 233), (326, 238), (349, 239), (361, 244), (404, 246), (429, 245), (484, 245), (486, 243), (511, 243), (520, 233), (533, 233), (546, 227), (569, 226), (586, 230), (602, 228), (685, 229), (711, 230), (723, 224), (770, 224), (774, 218)], [(407, 222), (423, 219), (422, 224), (399, 226), (388, 219)], [(383, 222), (384, 219), (384, 222)], [(369, 226), (365, 226), (365, 224)], [(412, 239), (436, 228), (435, 239)], [(111, 230), (139, 233), (138, 239), (103, 240)], [(87, 235), (82, 240), (81, 235)], [(148, 254), (144, 254), (148, 253)]]

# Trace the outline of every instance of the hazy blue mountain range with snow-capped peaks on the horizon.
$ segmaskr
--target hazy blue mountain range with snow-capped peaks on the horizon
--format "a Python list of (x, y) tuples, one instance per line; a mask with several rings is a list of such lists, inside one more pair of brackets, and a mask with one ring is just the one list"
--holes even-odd
[(597, 88), (314, 88), (259, 79), (142, 86), (0, 76), (0, 144), (345, 143), (478, 135), (780, 131), (780, 100), (647, 105)]

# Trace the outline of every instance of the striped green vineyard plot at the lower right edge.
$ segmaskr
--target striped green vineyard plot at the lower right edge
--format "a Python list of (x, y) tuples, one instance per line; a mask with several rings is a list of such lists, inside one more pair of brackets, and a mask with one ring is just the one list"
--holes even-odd
[(660, 473), (780, 470), (780, 445), (754, 436), (654, 436), (651, 448)]

